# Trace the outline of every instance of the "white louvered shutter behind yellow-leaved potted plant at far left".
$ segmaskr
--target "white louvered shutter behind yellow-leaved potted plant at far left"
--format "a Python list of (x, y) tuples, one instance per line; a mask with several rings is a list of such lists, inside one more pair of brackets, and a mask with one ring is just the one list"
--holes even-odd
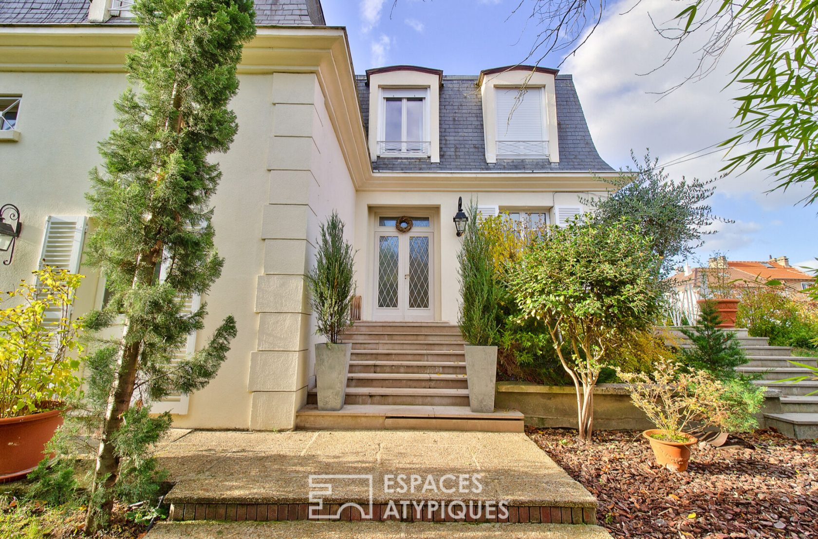
[[(55, 270), (68, 270), (72, 274), (78, 274), (87, 224), (88, 217), (84, 215), (49, 215), (38, 268), (42, 270), (44, 266), (50, 265)], [(59, 310), (47, 310), (44, 318), (47, 322), (53, 322), (60, 316)], [(68, 316), (71, 316), (70, 307)]]

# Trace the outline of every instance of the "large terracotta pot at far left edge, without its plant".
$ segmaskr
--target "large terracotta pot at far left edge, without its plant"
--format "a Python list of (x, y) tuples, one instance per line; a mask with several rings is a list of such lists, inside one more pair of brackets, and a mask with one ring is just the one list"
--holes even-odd
[(0, 419), (0, 482), (25, 478), (37, 467), (46, 443), (62, 424), (62, 411)]

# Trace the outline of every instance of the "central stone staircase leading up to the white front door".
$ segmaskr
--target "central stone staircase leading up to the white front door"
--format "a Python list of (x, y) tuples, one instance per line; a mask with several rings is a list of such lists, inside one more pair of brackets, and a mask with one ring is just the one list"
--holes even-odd
[(469, 408), (465, 341), (445, 322), (356, 322), (344, 342), (352, 356), (344, 408), (317, 410), (317, 392), (296, 415), (296, 428), (428, 428), (523, 432), (514, 410)]

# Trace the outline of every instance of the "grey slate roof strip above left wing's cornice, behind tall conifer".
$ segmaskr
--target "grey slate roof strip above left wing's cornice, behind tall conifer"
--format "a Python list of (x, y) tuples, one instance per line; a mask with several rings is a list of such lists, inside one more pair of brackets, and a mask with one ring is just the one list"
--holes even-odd
[[(99, 0), (101, 1), (101, 0)], [(88, 23), (90, 0), (2, 0), (0, 25)], [(256, 25), (325, 25), (319, 0), (255, 0)], [(106, 24), (129, 24), (111, 17)]]

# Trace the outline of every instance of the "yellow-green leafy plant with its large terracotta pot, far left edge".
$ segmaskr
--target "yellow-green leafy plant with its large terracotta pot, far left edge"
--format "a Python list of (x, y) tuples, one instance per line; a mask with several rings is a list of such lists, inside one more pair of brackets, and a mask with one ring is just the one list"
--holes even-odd
[(82, 275), (46, 266), (0, 301), (0, 482), (23, 478), (62, 424), (80, 385), (82, 321), (69, 310)]

